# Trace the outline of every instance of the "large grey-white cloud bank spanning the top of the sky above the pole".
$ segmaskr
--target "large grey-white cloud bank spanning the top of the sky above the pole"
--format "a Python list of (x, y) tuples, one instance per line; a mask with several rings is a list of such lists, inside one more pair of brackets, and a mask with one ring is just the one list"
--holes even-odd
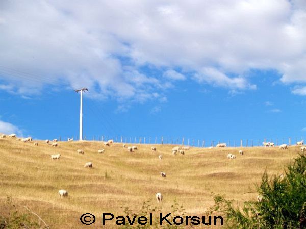
[[(94, 98), (143, 101), (190, 72), (197, 82), (231, 91), (256, 89), (247, 76), (252, 69), (274, 69), (286, 84), (306, 82), (301, 0), (34, 0), (0, 6), (0, 63), (18, 70), (0, 66), (0, 78), (9, 82), (2, 89), (10, 92), (31, 95), (45, 84), (66, 84), (88, 87)], [(152, 77), (141, 72), (144, 65), (182, 71)]]

